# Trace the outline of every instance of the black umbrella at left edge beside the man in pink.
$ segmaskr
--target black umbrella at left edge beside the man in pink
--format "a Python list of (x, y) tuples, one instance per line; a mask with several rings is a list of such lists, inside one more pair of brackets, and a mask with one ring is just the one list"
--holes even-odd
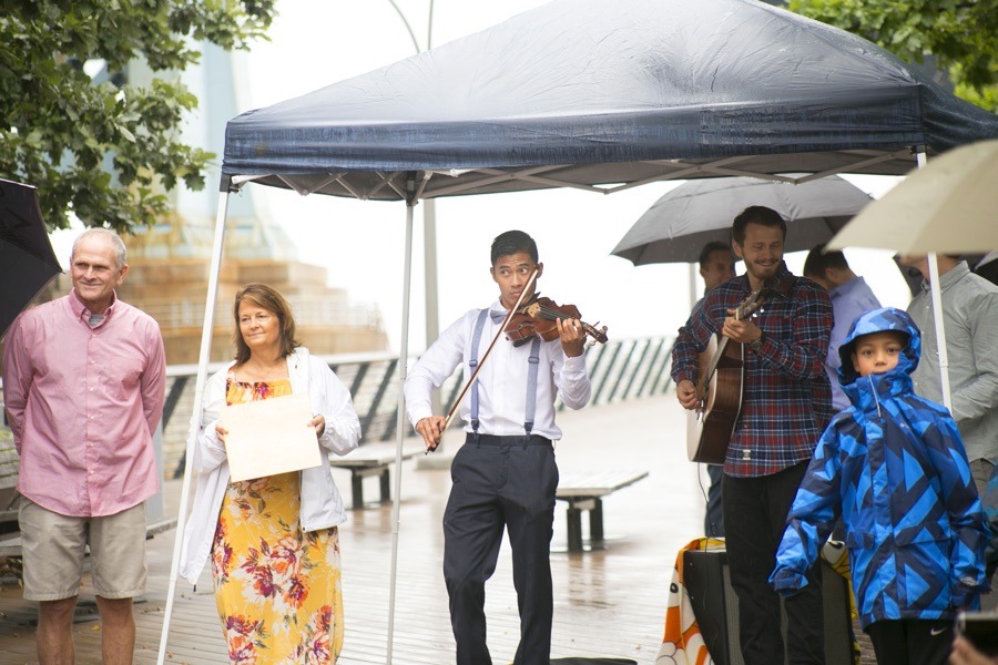
[(35, 188), (0, 180), (0, 338), (60, 273)]

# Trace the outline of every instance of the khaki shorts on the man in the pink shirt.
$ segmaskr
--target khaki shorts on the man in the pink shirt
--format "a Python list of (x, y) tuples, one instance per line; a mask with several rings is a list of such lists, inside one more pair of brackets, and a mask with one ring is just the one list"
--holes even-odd
[(21, 497), (24, 598), (59, 601), (80, 594), (84, 545), (93, 593), (131, 598), (145, 593), (145, 504), (103, 518), (69, 518)]

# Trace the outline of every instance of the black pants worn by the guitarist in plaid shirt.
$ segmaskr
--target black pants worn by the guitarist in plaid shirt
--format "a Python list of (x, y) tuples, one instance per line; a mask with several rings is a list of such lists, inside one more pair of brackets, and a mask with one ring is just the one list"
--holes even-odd
[(784, 600), (786, 658), (780, 625), (780, 595), (768, 579), (776, 567), (786, 515), (807, 462), (772, 475), (724, 474), (724, 533), (731, 586), (739, 596), (739, 644), (745, 665), (822, 665), (825, 662), (821, 570), (807, 572), (807, 586)]

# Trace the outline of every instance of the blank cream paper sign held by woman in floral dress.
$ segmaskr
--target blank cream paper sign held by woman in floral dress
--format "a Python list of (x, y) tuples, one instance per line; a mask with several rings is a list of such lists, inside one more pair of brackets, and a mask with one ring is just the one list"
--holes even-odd
[(232, 405), (220, 422), (228, 431), (225, 450), (232, 480), (249, 480), (322, 463), (312, 406), (305, 395), (286, 395)]

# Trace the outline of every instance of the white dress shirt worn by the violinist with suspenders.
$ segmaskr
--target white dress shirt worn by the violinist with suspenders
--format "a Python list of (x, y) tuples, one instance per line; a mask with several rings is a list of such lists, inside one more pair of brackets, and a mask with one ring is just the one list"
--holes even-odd
[[(499, 301), (490, 309), (506, 314)], [(424, 418), (434, 416), (430, 392), (439, 388), (460, 364), (464, 366), (462, 386), (471, 377), (468, 362), (471, 358), (471, 340), (480, 309), (465, 314), (440, 337), (413, 366), (406, 379), (406, 411), (415, 426)], [(500, 323), (486, 317), (479, 340), (478, 359), (481, 361), (489, 342), (499, 330)], [(522, 436), (527, 413), (527, 383), (530, 344), (515, 347), (503, 335), (496, 341), (488, 360), (478, 372), (478, 432), (493, 436)], [(585, 355), (568, 358), (561, 341), (544, 341), (539, 350), (540, 365), (537, 375), (537, 402), (533, 430), (531, 433), (547, 437), (552, 441), (561, 439), (561, 430), (554, 424), (554, 398), (561, 391), (561, 400), (570, 409), (581, 409), (589, 402), (592, 386), (585, 369)], [(450, 409), (451, 405), (446, 405)], [(471, 390), (465, 396), (460, 408), (465, 431), (471, 431)], [(439, 413), (446, 416), (446, 413)]]

